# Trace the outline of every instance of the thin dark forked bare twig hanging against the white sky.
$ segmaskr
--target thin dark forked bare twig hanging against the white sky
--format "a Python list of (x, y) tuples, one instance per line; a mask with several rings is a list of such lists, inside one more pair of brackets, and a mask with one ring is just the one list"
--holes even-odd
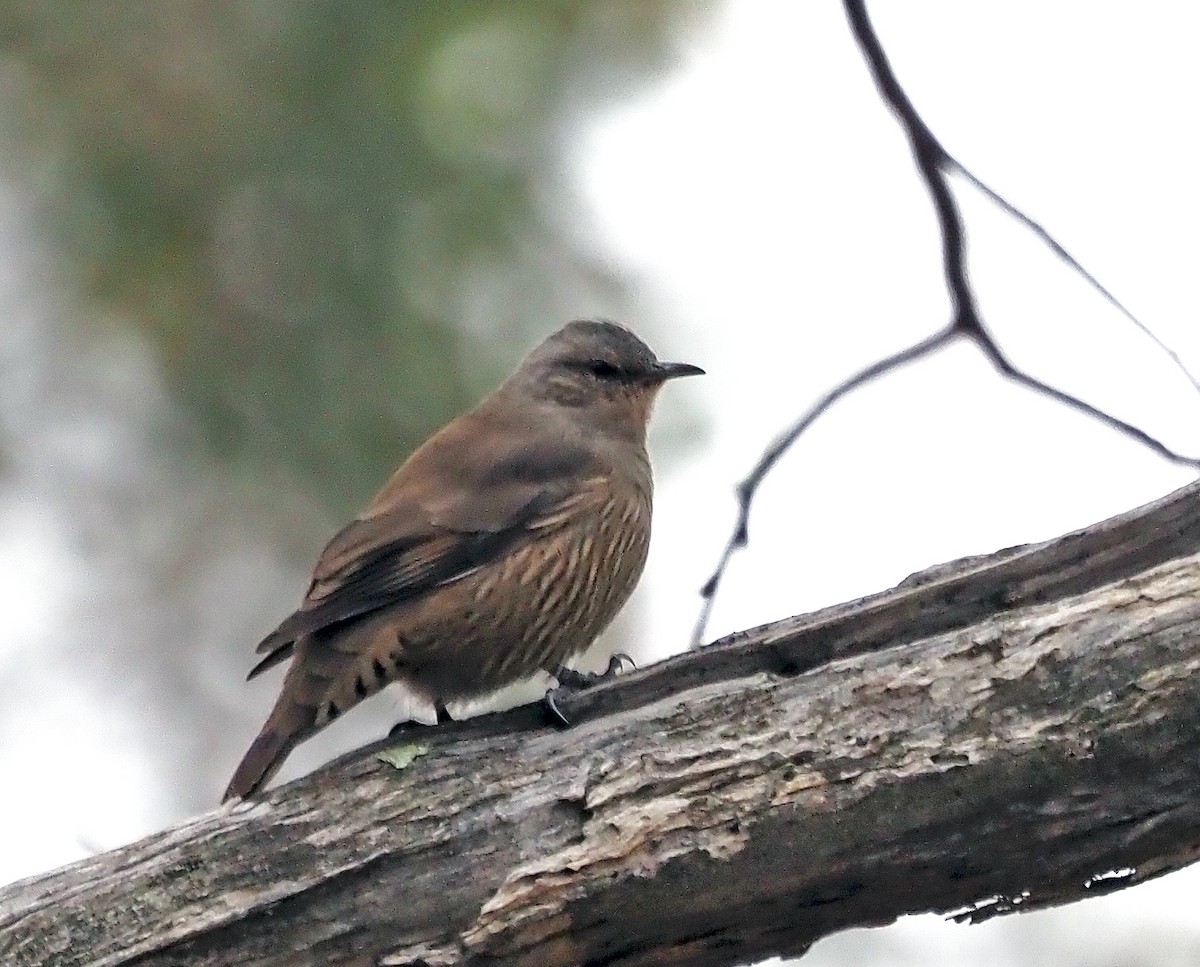
[(730, 536), (728, 542), (725, 545), (725, 549), (721, 552), (716, 569), (701, 588), (703, 603), (701, 606), (700, 618), (696, 621), (695, 631), (692, 632), (692, 648), (698, 648), (703, 643), (704, 630), (713, 611), (713, 601), (725, 576), (725, 571), (728, 567), (730, 559), (733, 553), (738, 548), (744, 547), (749, 540), (748, 525), (750, 505), (754, 501), (755, 493), (757, 492), (758, 485), (762, 482), (763, 478), (774, 468), (779, 458), (788, 450), (788, 448), (792, 446), (792, 444), (796, 443), (800, 434), (816, 421), (818, 416), (821, 416), (842, 396), (858, 389), (865, 383), (877, 379), (893, 370), (928, 355), (934, 349), (946, 346), (953, 340), (960, 337), (968, 338), (979, 348), (988, 361), (991, 362), (996, 371), (1004, 378), (1031, 389), (1042, 396), (1054, 400), (1057, 403), (1070, 407), (1072, 409), (1082, 413), (1085, 416), (1098, 420), (1105, 426), (1133, 438), (1144, 446), (1148, 446), (1164, 460), (1200, 469), (1200, 460), (1172, 450), (1146, 431), (1112, 416), (1111, 414), (1105, 413), (1104, 410), (1080, 400), (1076, 396), (1073, 396), (1069, 392), (1060, 390), (1042, 382), (1040, 379), (1037, 379), (1036, 377), (1030, 376), (1015, 366), (1004, 355), (996, 340), (988, 331), (986, 326), (984, 326), (974, 292), (971, 288), (966, 269), (966, 232), (962, 226), (962, 215), (959, 211), (958, 203), (950, 191), (950, 184), (947, 178), (949, 173), (960, 174), (988, 199), (1000, 206), (1001, 210), (1016, 218), (1021, 224), (1033, 232), (1043, 244), (1045, 244), (1060, 259), (1062, 259), (1068, 266), (1086, 280), (1087, 283), (1111, 306), (1114, 306), (1129, 322), (1138, 326), (1138, 329), (1146, 336), (1153, 340), (1154, 344), (1175, 362), (1192, 385), (1200, 391), (1200, 380), (1198, 380), (1187, 370), (1180, 356), (1165, 343), (1163, 343), (1163, 341), (1159, 340), (1128, 308), (1126, 308), (1124, 305), (1122, 305), (1116, 296), (1112, 295), (1112, 293), (1100, 284), (1100, 282), (1091, 272), (1088, 272), (1079, 263), (1079, 260), (1062, 246), (1062, 244), (1060, 244), (1039, 222), (1027, 216), (1007, 198), (983, 182), (958, 158), (946, 150), (942, 143), (925, 124), (924, 119), (917, 113), (917, 109), (913, 107), (908, 95), (896, 79), (887, 54), (880, 43), (878, 36), (875, 34), (875, 28), (871, 25), (870, 18), (866, 14), (865, 0), (842, 0), (842, 4), (846, 11), (846, 19), (850, 23), (851, 32), (854, 35), (854, 41), (863, 52), (863, 58), (871, 71), (871, 76), (875, 79), (875, 85), (878, 89), (880, 95), (883, 97), (892, 113), (896, 116), (896, 120), (899, 120), (905, 134), (908, 138), (917, 170), (920, 174), (922, 180), (925, 182), (925, 187), (929, 190), (930, 198), (934, 203), (934, 209), (937, 214), (937, 223), (942, 235), (942, 269), (946, 275), (946, 287), (950, 295), (950, 323), (936, 335), (914, 343), (907, 349), (887, 356), (838, 384), (814, 407), (806, 410), (799, 420), (784, 432), (758, 458), (757, 463), (750, 470), (750, 474), (738, 485), (738, 517), (733, 528), (733, 534)]

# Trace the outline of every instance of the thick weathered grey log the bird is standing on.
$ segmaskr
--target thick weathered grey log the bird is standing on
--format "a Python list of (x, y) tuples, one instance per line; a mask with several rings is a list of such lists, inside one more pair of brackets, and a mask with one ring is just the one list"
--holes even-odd
[[(0, 891), (0, 962), (731, 965), (1200, 848), (1200, 486)], [(404, 768), (377, 757), (407, 746)]]

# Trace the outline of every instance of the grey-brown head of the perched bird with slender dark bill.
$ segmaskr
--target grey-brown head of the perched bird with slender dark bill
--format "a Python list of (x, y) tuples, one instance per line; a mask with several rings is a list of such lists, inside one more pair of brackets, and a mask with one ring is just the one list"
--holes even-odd
[(703, 372), (686, 362), (662, 362), (623, 325), (584, 320), (568, 323), (542, 342), (510, 382), (540, 401), (575, 410), (575, 419), (640, 440), (662, 384)]

